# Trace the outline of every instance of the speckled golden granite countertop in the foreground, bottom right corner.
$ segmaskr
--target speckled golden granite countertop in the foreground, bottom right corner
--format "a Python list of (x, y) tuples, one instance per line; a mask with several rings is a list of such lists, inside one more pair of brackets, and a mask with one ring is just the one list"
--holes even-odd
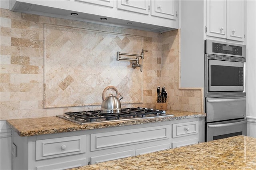
[(233, 136), (72, 170), (256, 169), (256, 138)]

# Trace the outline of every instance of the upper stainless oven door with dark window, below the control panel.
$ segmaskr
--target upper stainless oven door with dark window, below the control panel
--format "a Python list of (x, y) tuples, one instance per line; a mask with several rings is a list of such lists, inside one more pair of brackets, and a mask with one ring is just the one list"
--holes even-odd
[(243, 91), (244, 63), (209, 61), (209, 91)]

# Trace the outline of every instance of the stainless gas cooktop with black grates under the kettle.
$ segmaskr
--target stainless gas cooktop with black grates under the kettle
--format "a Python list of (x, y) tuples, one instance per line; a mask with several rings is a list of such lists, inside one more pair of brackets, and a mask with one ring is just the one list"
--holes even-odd
[[(62, 119), (78, 123), (80, 125), (88, 123), (103, 123), (108, 121), (125, 121), (134, 119), (145, 119), (154, 117), (166, 116), (165, 111), (148, 109), (148, 108), (125, 108), (118, 113), (108, 113), (106, 111), (81, 111), (81, 112), (66, 112), (65, 115), (57, 115)], [(173, 116), (173, 115), (167, 115)], [(167, 117), (166, 116), (166, 117)]]

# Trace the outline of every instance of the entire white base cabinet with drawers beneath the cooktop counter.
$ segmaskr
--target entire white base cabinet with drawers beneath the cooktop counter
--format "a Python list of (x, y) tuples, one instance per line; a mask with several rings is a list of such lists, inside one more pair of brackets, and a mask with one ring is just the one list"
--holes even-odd
[(12, 169), (86, 166), (200, 141), (201, 118), (21, 137), (12, 130)]

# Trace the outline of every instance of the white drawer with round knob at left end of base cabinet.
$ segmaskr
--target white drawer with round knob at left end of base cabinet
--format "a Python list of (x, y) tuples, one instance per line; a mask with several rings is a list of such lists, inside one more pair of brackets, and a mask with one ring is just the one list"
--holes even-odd
[(36, 160), (80, 154), (86, 151), (86, 135), (36, 140)]

